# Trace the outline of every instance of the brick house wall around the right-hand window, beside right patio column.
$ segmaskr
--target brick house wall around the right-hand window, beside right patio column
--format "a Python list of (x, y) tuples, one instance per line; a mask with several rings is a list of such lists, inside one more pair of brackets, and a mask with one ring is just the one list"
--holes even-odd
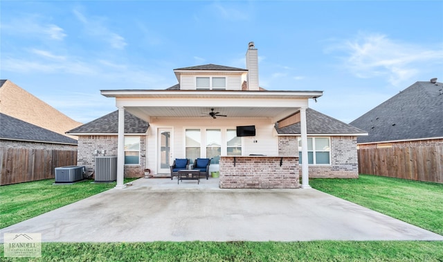
[[(279, 137), (280, 155), (298, 156), (298, 137)], [(359, 177), (356, 137), (330, 137), (331, 164), (309, 165), (309, 177), (357, 178)], [(287, 147), (291, 148), (287, 148)], [(299, 166), (299, 173), (302, 172)]]

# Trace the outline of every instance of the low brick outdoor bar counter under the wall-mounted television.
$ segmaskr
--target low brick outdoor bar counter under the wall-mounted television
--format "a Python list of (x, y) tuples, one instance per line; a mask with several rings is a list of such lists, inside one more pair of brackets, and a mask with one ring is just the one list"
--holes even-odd
[(221, 189), (296, 189), (300, 187), (297, 165), (298, 157), (221, 157), (219, 185)]

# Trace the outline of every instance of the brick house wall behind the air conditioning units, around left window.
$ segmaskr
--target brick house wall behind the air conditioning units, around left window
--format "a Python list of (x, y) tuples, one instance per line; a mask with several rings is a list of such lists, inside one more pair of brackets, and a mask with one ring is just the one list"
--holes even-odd
[[(96, 157), (117, 155), (118, 136), (116, 135), (91, 135), (78, 137), (78, 166), (86, 166), (87, 173), (93, 173), (96, 168)], [(99, 153), (94, 154), (95, 150)], [(140, 164), (125, 165), (125, 177), (142, 177), (146, 163), (146, 137), (140, 137)]]

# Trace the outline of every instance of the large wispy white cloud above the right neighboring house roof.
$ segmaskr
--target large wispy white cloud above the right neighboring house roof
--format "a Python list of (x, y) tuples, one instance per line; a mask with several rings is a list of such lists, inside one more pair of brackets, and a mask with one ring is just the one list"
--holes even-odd
[(326, 51), (344, 51), (343, 65), (356, 77), (383, 77), (391, 85), (415, 81), (419, 71), (442, 64), (443, 49), (391, 40), (379, 33), (359, 33), (352, 40), (330, 46)]

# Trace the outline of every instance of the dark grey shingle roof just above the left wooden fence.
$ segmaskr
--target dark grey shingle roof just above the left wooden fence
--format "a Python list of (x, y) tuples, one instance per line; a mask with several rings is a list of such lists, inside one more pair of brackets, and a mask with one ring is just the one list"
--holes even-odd
[(77, 140), (0, 113), (0, 139), (77, 145)]

